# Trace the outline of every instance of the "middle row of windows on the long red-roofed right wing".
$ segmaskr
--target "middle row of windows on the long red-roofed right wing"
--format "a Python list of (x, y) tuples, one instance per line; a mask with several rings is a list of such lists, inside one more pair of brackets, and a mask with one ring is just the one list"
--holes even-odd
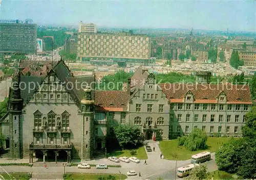
[[(185, 115), (185, 121), (189, 122), (190, 117), (191, 117), (190, 114), (186, 114)], [(239, 122), (239, 117), (240, 117), (240, 115), (235, 115), (234, 116), (234, 122)], [(216, 115), (211, 114), (210, 115), (210, 122), (215, 122), (215, 119), (216, 119)], [(177, 121), (181, 122), (181, 120), (182, 120), (182, 114), (178, 114), (177, 115)], [(202, 122), (206, 122), (206, 120), (207, 120), (207, 114), (203, 114), (202, 115)], [(170, 121), (174, 121), (174, 114), (170, 114)], [(195, 114), (194, 115), (194, 122), (198, 122), (198, 121), (199, 121), (199, 115)], [(223, 122), (224, 121), (224, 115), (220, 114), (219, 117), (218, 117), (218, 121)], [(226, 122), (231, 122), (231, 115), (227, 115)], [(245, 122), (245, 115), (243, 115), (243, 122)]]

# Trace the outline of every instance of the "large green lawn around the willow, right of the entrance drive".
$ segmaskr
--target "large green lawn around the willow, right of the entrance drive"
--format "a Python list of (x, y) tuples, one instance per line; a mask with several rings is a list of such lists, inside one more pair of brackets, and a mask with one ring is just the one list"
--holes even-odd
[(222, 143), (226, 143), (230, 138), (208, 138), (207, 145), (208, 148), (205, 150), (190, 151), (184, 148), (184, 146), (178, 146), (178, 139), (173, 139), (169, 141), (160, 141), (159, 147), (164, 155), (164, 159), (175, 160), (175, 155), (177, 155), (177, 160), (188, 160), (192, 155), (202, 151), (215, 152), (216, 149), (220, 147)]

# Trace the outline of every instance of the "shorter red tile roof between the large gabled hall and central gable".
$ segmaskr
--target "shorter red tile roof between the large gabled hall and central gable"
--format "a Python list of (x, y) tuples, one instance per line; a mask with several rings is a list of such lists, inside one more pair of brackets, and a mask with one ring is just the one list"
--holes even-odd
[(95, 90), (94, 104), (107, 111), (126, 111), (129, 97), (126, 91)]

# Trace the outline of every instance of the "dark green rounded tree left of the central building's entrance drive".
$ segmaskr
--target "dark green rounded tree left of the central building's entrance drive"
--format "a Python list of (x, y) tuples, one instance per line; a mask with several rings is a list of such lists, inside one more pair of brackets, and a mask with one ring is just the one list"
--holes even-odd
[(115, 127), (115, 135), (123, 149), (139, 147), (144, 141), (140, 128), (131, 124), (121, 124)]

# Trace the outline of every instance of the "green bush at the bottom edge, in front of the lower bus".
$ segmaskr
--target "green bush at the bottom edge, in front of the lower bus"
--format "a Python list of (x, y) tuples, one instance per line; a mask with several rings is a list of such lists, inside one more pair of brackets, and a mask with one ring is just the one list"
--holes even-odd
[(187, 176), (186, 179), (191, 179), (191, 180), (210, 179), (210, 173), (207, 172), (206, 164), (199, 165), (193, 168), (189, 172), (189, 176)]

